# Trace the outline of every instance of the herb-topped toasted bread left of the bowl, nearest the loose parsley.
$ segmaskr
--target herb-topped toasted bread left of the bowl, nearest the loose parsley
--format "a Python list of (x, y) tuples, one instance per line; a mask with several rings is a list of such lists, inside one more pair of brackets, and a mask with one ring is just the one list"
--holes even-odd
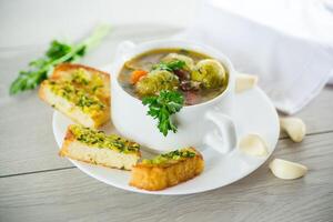
[(99, 128), (110, 120), (110, 77), (81, 64), (58, 65), (39, 97), (75, 122)]

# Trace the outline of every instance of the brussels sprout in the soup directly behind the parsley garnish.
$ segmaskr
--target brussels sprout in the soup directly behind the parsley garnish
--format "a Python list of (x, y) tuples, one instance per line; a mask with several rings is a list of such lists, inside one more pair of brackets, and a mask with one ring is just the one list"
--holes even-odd
[(140, 95), (151, 95), (161, 90), (176, 90), (178, 87), (176, 75), (167, 70), (153, 70), (137, 82), (135, 90)]

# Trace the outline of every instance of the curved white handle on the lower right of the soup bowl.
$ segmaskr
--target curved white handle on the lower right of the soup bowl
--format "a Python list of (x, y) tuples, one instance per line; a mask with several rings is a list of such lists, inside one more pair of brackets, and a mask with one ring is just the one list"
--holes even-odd
[(226, 154), (236, 148), (238, 138), (232, 119), (218, 111), (209, 111), (205, 119), (212, 122), (218, 130), (210, 130), (204, 137), (204, 144), (220, 153)]

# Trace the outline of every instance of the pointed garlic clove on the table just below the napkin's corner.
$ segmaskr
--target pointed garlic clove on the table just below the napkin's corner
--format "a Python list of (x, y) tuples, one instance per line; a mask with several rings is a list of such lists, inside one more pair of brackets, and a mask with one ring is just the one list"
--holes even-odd
[(280, 125), (294, 142), (301, 142), (306, 133), (306, 127), (300, 118), (280, 118)]

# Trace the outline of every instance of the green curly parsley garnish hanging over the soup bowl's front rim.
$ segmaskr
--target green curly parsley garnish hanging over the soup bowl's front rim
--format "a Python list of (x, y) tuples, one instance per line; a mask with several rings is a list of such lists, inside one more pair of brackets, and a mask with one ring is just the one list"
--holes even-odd
[(169, 131), (176, 132), (171, 115), (183, 108), (184, 97), (180, 92), (162, 90), (159, 95), (143, 98), (142, 103), (149, 108), (147, 114), (158, 120), (158, 128), (164, 137)]

